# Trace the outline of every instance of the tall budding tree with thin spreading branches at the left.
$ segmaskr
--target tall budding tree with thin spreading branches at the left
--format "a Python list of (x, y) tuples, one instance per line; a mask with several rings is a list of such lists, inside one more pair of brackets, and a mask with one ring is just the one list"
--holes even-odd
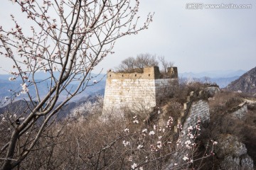
[[(2, 169), (13, 169), (40, 147), (42, 134), (54, 123), (55, 115), (73, 96), (90, 86), (90, 72), (124, 35), (137, 34), (149, 26), (152, 15), (138, 27), (139, 1), (55, 0), (13, 1), (26, 13), (30, 30), (14, 16), (14, 28), (0, 26), (0, 55), (13, 62), (10, 80), (21, 79), (11, 98), (23, 95), (27, 113), (23, 120), (9, 120), (11, 137), (1, 146)], [(28, 33), (29, 32), (29, 33)], [(47, 78), (36, 80), (37, 72)], [(46, 83), (48, 94), (39, 85)], [(75, 82), (77, 85), (72, 86)], [(35, 94), (31, 93), (35, 89)], [(64, 96), (60, 100), (60, 96)], [(31, 106), (32, 105), (32, 106)], [(54, 136), (54, 135), (53, 135)]]

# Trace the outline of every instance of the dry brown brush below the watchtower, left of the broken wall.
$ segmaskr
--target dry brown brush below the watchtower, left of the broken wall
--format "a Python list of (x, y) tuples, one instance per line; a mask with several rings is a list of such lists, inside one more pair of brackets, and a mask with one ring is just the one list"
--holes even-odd
[[(50, 121), (43, 130), (40, 140), (31, 150), (31, 154), (28, 154), (17, 169), (131, 169), (134, 164), (137, 164), (137, 168), (164, 169), (177, 157), (184, 157), (179, 155), (183, 150), (188, 150), (186, 153), (193, 155), (196, 148), (183, 147), (174, 150), (176, 146), (176, 141), (173, 140), (174, 120), (169, 116), (179, 114), (181, 103), (178, 101), (183, 101), (188, 94), (188, 91), (182, 88), (190, 89), (185, 85), (175, 88), (183, 91), (183, 96), (178, 96), (179, 98), (172, 96), (169, 101), (166, 96), (161, 103), (162, 105), (166, 102), (171, 103), (167, 108), (168, 113), (163, 116), (164, 125), (158, 124), (157, 108), (151, 114), (124, 111), (124, 118), (109, 120), (104, 120), (101, 117), (101, 110), (94, 108), (98, 113), (87, 115), (86, 118), (72, 116), (57, 123)], [(4, 136), (8, 134), (6, 130), (11, 128), (11, 125), (8, 123), (1, 125), (3, 126), (1, 136)], [(31, 132), (19, 138), (19, 147), (16, 148), (17, 155), (14, 159), (19, 153), (24, 152), (26, 148), (23, 146), (33, 140), (39, 128), (40, 125), (35, 126)], [(150, 132), (154, 134), (149, 135)], [(5, 143), (4, 139), (1, 139), (1, 146)], [(3, 152), (1, 157), (4, 157), (4, 154)], [(176, 163), (176, 169), (193, 166), (183, 159)]]

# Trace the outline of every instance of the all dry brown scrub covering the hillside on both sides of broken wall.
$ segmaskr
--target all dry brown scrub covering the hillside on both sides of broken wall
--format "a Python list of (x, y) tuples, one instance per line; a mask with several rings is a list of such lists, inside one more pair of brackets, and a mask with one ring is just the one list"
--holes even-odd
[[(122, 119), (109, 118), (107, 122), (101, 117), (101, 110), (95, 108), (94, 114), (83, 119), (72, 117), (57, 123), (51, 121), (31, 154), (28, 154), (17, 169), (164, 169), (177, 157), (183, 157), (177, 156), (182, 151), (175, 151), (176, 141), (173, 138), (174, 122), (181, 113), (183, 102), (190, 91), (198, 94), (206, 86), (200, 83), (184, 83), (172, 87), (175, 93), (162, 96), (159, 107), (161, 113), (166, 112), (162, 116), (164, 126), (158, 124), (158, 108), (153, 113), (134, 113), (127, 110), (124, 111)], [(188, 164), (181, 159), (181, 162), (177, 162), (177, 169), (217, 169), (220, 158), (205, 157), (206, 153), (212, 152), (212, 148), (206, 147), (206, 144), (210, 140), (218, 140), (223, 134), (237, 135), (245, 142), (248, 153), (255, 160), (256, 106), (248, 107), (245, 120), (235, 120), (225, 112), (237, 106), (242, 97), (241, 94), (222, 91), (214, 96), (214, 100), (210, 100), (210, 110), (214, 111), (211, 113), (211, 121), (203, 126), (203, 133), (196, 140), (197, 144), (202, 145), (197, 145), (196, 153), (196, 148), (190, 150), (198, 161)], [(171, 124), (166, 126), (168, 121)], [(30, 133), (18, 140), (17, 154), (23, 152), (23, 145), (29, 144), (39, 127), (40, 125), (35, 126)], [(1, 145), (8, 140), (8, 128), (11, 128), (8, 123), (1, 124)], [(149, 135), (151, 131), (154, 131), (154, 135)], [(4, 157), (4, 153), (1, 157)]]

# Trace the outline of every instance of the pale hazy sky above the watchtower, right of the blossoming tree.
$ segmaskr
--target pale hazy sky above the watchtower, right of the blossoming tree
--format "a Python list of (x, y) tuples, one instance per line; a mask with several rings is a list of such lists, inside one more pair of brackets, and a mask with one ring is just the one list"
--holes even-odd
[[(194, 2), (202, 3), (203, 8), (186, 8)], [(207, 4), (251, 4), (252, 8), (210, 9)], [(142, 0), (140, 5), (142, 19), (155, 13), (149, 29), (117, 40), (115, 54), (95, 70), (104, 68), (106, 72), (125, 58), (145, 52), (164, 55), (179, 72), (249, 70), (256, 66), (255, 0)], [(17, 13), (11, 1), (1, 1), (1, 26), (9, 24), (10, 13)], [(3, 58), (0, 67), (6, 69), (8, 62)]]

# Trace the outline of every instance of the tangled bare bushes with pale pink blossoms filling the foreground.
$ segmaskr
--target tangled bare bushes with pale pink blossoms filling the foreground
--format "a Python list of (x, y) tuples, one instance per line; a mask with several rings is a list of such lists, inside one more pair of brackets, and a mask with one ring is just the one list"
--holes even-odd
[[(158, 113), (159, 115), (161, 113)], [(183, 130), (192, 140), (173, 139), (173, 120), (147, 124), (139, 114), (102, 123), (97, 115), (80, 123), (62, 120), (44, 131), (38, 148), (21, 169), (186, 169), (193, 168), (196, 127)], [(199, 127), (199, 126), (198, 126)], [(197, 128), (198, 128), (197, 127)], [(29, 135), (29, 134), (27, 134)], [(20, 140), (19, 142), (25, 142)], [(39, 146), (44, 146), (40, 149)], [(178, 145), (178, 147), (176, 147)], [(213, 146), (210, 152), (213, 150)], [(207, 156), (210, 157), (210, 154)]]

